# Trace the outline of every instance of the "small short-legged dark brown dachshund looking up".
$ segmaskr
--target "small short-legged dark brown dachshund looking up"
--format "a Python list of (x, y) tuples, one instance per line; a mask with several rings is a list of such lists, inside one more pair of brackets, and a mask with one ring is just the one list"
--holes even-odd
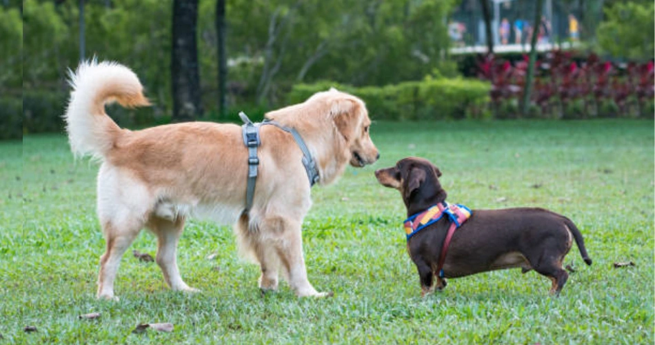
[[(426, 159), (401, 159), (396, 166), (376, 170), (375, 176), (383, 186), (400, 191), (409, 219), (432, 206), (439, 205), (440, 210), (447, 206), (447, 194), (439, 184), (441, 171)], [(559, 294), (569, 277), (562, 262), (573, 239), (585, 263), (592, 264), (575, 224), (549, 210), (473, 210), (470, 218), (463, 220), (447, 246), (443, 244), (452, 224), (449, 217), (441, 217), (408, 235), (407, 250), (419, 269), (422, 296), (434, 290), (434, 276), (436, 288), (441, 290), (446, 286), (445, 278), (518, 267), (523, 269), (523, 273), (534, 269), (550, 278), (550, 293)], [(441, 260), (443, 268), (439, 268), (443, 248), (447, 255)]]

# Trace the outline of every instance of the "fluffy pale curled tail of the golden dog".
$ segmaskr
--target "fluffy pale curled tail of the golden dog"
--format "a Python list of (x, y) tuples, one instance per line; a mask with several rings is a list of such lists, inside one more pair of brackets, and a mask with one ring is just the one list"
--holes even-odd
[(70, 100), (66, 131), (74, 155), (105, 157), (123, 130), (105, 113), (105, 104), (117, 101), (121, 106), (148, 106), (137, 75), (116, 62), (97, 60), (80, 63), (70, 71)]

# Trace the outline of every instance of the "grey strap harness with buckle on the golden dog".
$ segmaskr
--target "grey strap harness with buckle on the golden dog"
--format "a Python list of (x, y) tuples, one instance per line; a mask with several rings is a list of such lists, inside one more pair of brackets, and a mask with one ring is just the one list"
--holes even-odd
[(303, 152), (303, 166), (305, 166), (305, 171), (307, 176), (310, 179), (310, 187), (314, 186), (316, 182), (319, 181), (319, 170), (316, 168), (316, 161), (312, 158), (310, 150), (305, 145), (303, 137), (300, 136), (299, 132), (294, 128), (285, 127), (281, 124), (278, 124), (275, 121), (264, 120), (261, 123), (253, 124), (248, 116), (244, 112), (239, 112), (239, 117), (243, 121), (243, 144), (248, 148), (248, 186), (245, 190), (245, 210), (244, 213), (248, 213), (252, 207), (252, 198), (254, 197), (254, 187), (257, 181), (257, 166), (259, 166), (259, 157), (257, 157), (257, 148), (261, 145), (261, 138), (259, 137), (259, 128), (265, 125), (272, 125), (280, 128), (281, 130), (291, 133), (298, 144), (298, 147)]

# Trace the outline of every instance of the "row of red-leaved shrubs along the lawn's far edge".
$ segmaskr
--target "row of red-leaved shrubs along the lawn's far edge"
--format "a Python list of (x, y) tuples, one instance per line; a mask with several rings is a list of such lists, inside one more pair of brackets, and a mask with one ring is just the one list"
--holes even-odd
[[(655, 66), (627, 63), (614, 66), (590, 54), (574, 59), (572, 51), (554, 50), (535, 61), (536, 76), (530, 102), (547, 117), (643, 115), (653, 104)], [(486, 55), (478, 59), (478, 77), (491, 82), (490, 98), (496, 117), (511, 117), (521, 101), (529, 59), (514, 62)], [(593, 107), (590, 107), (593, 105)], [(556, 107), (554, 107), (556, 106)], [(499, 113), (500, 110), (505, 113)], [(553, 111), (556, 111), (553, 113)]]

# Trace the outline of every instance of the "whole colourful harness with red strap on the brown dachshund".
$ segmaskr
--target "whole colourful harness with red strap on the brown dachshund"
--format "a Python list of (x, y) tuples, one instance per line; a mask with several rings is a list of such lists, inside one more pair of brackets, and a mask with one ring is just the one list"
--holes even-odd
[(452, 235), (455, 233), (457, 228), (459, 228), (467, 219), (471, 217), (472, 211), (470, 208), (467, 208), (464, 205), (450, 205), (443, 201), (421, 213), (412, 215), (412, 217), (405, 219), (404, 222), (405, 233), (407, 234), (407, 241), (409, 242), (412, 236), (416, 235), (416, 233), (423, 230), (426, 226), (439, 221), (443, 215), (448, 216), (451, 224), (450, 228), (448, 228), (448, 232), (446, 233), (446, 237), (443, 240), (443, 246), (441, 248), (441, 253), (439, 254), (439, 264), (436, 267), (440, 278), (443, 278), (443, 263), (445, 262), (446, 252), (448, 251), (448, 245), (450, 245)]

